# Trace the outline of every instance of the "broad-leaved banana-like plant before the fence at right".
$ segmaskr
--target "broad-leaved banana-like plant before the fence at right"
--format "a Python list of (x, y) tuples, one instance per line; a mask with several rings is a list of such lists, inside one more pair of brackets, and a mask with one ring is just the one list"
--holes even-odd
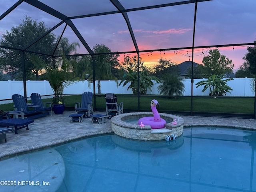
[(224, 74), (221, 75), (211, 75), (208, 80), (203, 80), (198, 82), (196, 85), (196, 88), (199, 86), (204, 86), (202, 92), (204, 92), (207, 88), (210, 89), (209, 96), (224, 96), (228, 93), (230, 93), (230, 90), (232, 88), (227, 85), (227, 82), (230, 80), (233, 80), (233, 78), (226, 78), (223, 79)]

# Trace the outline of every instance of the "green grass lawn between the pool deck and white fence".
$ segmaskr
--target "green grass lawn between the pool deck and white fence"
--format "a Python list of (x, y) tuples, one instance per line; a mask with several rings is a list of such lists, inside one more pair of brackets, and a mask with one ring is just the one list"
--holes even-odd
[[(65, 96), (65, 106), (75, 107), (76, 102), (80, 102), (82, 96)], [(163, 97), (163, 96), (141, 96), (140, 110), (151, 110), (150, 101), (152, 99), (158, 100), (160, 104), (159, 110), (164, 111), (190, 111), (191, 98), (190, 97)], [(52, 99), (43, 99), (43, 102), (52, 102)], [(96, 96), (96, 108), (105, 108), (104, 95)], [(118, 103), (123, 102), (124, 110), (137, 110), (138, 98), (136, 96), (118, 95)], [(13, 103), (1, 104), (0, 110), (13, 110)], [(220, 113), (254, 113), (254, 98), (242, 97), (193, 97), (193, 111), (194, 112), (220, 112)]]

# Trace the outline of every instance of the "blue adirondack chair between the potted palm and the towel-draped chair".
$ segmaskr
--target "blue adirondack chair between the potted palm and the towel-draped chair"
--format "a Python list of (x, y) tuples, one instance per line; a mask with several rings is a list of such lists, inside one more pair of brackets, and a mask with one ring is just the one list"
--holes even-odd
[(93, 115), (92, 95), (92, 92), (84, 92), (82, 94), (82, 102), (75, 103), (76, 113), (84, 113), (86, 117)]

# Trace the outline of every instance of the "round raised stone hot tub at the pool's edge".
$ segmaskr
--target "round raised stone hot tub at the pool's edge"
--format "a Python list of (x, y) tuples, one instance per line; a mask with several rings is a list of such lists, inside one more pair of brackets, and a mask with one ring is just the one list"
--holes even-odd
[[(153, 116), (152, 112), (134, 112), (112, 117), (112, 130), (119, 136), (136, 140), (164, 140), (166, 135), (176, 135), (176, 137), (182, 135), (184, 124), (183, 118), (166, 113), (159, 113), (159, 115), (167, 122), (165, 128), (151, 129), (150, 125), (140, 127), (139, 124), (126, 122), (126, 120), (133, 118), (139, 119), (146, 116)], [(176, 125), (171, 123), (174, 119), (176, 119)]]

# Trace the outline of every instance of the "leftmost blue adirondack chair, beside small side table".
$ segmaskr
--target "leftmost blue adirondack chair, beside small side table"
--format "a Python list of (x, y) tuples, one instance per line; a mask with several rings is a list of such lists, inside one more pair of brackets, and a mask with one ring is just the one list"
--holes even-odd
[[(14, 102), (14, 110), (15, 111), (23, 111), (23, 116), (26, 119), (32, 119), (32, 118), (38, 118), (40, 116), (44, 116), (46, 115), (44, 112), (44, 110), (42, 109), (36, 109), (38, 107), (38, 105), (28, 105), (26, 103), (26, 100), (24, 98), (24, 96), (19, 95), (19, 94), (14, 94), (12, 95), (12, 100)], [(33, 108), (32, 110), (29, 110), (28, 107)]]

